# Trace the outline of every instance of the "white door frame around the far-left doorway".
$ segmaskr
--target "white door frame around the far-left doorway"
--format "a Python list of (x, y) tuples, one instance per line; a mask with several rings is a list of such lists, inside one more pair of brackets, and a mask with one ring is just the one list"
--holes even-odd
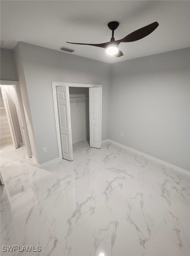
[(28, 157), (31, 158), (32, 151), (31, 151), (31, 147), (30, 147), (30, 140), (29, 140), (29, 136), (28, 136), (28, 130), (27, 130), (27, 125), (26, 125), (26, 119), (25, 119), (25, 114), (24, 114), (24, 108), (23, 108), (23, 103), (22, 103), (19, 82), (18, 81), (9, 81), (9, 80), (0, 80), (0, 85), (1, 86), (3, 86), (3, 85), (10, 86), (11, 85), (11, 86), (15, 87), (17, 101), (18, 101), (18, 108), (19, 108), (19, 112), (20, 112), (20, 119), (21, 119), (21, 123), (22, 123), (22, 127), (23, 127), (22, 130), (23, 130), (23, 135), (24, 135), (24, 142), (26, 145)]

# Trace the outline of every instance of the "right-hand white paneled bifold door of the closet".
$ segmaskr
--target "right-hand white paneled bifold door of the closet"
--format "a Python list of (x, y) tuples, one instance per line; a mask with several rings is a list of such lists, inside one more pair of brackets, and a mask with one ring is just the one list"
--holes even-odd
[(101, 148), (102, 88), (89, 88), (90, 147)]

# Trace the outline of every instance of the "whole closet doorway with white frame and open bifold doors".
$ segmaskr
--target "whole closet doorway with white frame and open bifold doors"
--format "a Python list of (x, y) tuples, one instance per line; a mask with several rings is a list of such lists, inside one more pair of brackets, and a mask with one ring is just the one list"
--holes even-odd
[(59, 157), (73, 160), (72, 143), (101, 148), (102, 86), (52, 82)]

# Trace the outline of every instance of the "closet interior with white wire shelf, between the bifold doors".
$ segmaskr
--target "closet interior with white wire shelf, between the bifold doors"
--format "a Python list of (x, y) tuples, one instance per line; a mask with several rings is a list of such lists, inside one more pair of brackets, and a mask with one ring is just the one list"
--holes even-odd
[(89, 88), (69, 87), (72, 144), (89, 140)]

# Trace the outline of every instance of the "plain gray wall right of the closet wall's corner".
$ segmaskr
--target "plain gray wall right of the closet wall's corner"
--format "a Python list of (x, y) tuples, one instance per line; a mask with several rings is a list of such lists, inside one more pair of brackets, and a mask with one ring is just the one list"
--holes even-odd
[(190, 170), (189, 60), (185, 48), (112, 64), (109, 138)]

